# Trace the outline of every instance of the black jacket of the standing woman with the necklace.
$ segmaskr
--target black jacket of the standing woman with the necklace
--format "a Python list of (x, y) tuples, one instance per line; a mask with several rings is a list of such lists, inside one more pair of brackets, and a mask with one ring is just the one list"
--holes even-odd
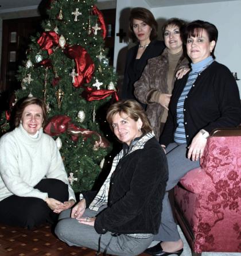
[(141, 77), (142, 71), (146, 67), (147, 60), (159, 56), (164, 48), (165, 44), (163, 41), (151, 41), (145, 52), (143, 52), (141, 59), (139, 59), (136, 70), (134, 69), (134, 61), (135, 57), (137, 56), (138, 45), (135, 45), (129, 49), (126, 56), (125, 75), (120, 99), (137, 100), (134, 96), (134, 83)]

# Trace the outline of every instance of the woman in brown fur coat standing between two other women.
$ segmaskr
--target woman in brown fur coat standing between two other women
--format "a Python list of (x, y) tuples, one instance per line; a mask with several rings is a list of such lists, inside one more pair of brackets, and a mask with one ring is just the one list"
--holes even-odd
[(168, 104), (172, 96), (175, 74), (181, 69), (188, 71), (188, 60), (183, 55), (180, 30), (185, 22), (172, 18), (162, 27), (166, 48), (163, 53), (150, 59), (141, 78), (135, 82), (135, 96), (147, 104), (146, 113), (153, 127), (156, 138), (159, 139), (166, 118)]

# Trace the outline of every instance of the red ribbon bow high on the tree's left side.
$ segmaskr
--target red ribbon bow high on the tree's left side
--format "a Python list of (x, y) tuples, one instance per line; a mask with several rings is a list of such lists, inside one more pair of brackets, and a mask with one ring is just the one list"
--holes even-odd
[(52, 47), (59, 44), (59, 37), (54, 31), (43, 32), (37, 43), (42, 50), (46, 50), (51, 55), (53, 53)]

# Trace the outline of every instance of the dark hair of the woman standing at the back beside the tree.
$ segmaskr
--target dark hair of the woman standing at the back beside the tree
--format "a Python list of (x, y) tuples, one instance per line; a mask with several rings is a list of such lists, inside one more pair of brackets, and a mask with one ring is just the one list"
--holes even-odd
[(129, 36), (135, 42), (137, 41), (137, 37), (133, 31), (133, 20), (140, 20), (145, 22), (147, 25), (151, 27), (150, 40), (154, 40), (157, 38), (157, 29), (158, 24), (155, 20), (153, 14), (143, 7), (135, 7), (131, 9), (130, 17), (129, 17)]

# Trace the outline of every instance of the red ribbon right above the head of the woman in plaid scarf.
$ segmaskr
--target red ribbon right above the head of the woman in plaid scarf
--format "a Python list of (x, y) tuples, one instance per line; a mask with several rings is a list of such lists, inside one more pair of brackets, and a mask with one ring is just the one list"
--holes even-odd
[(115, 90), (96, 90), (94, 88), (86, 87), (85, 91), (82, 93), (82, 96), (89, 102), (92, 100), (105, 99), (111, 95), (114, 96), (116, 101), (119, 100)]

